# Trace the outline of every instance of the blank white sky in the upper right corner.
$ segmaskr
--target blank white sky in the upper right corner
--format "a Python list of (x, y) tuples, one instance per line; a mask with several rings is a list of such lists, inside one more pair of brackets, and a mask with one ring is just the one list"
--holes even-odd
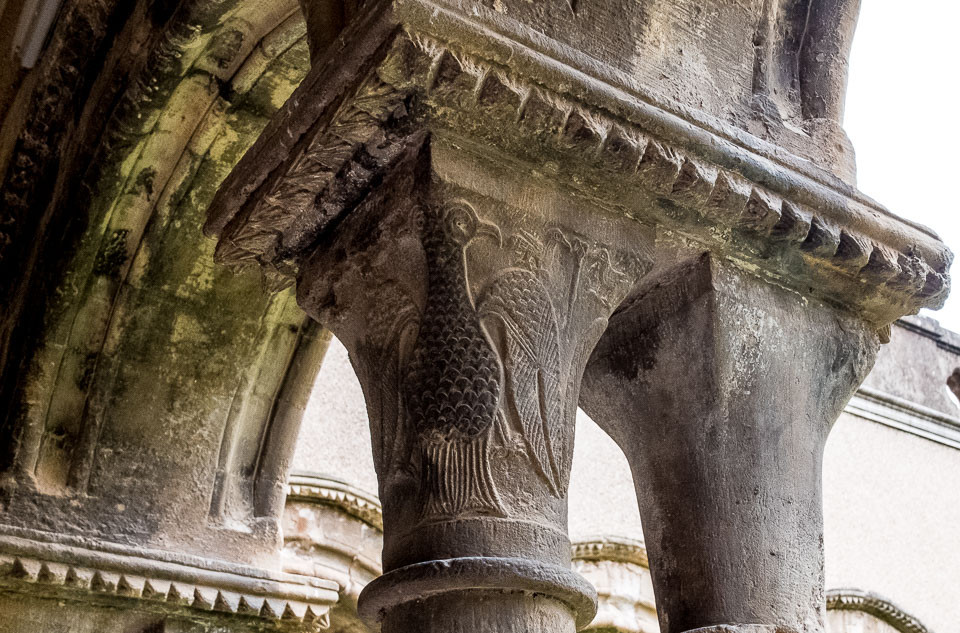
[[(844, 127), (857, 185), (960, 254), (960, 1), (863, 0)], [(960, 266), (953, 267), (960, 274)], [(960, 281), (933, 316), (960, 331)]]

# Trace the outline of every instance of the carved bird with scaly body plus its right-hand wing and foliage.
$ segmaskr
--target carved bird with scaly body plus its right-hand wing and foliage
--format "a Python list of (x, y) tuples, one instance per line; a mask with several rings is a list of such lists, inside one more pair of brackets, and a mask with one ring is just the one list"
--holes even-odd
[[(503, 252), (500, 229), (466, 203), (425, 210), (427, 295), (403, 381), (419, 447), (424, 521), (505, 516), (491, 474), (495, 437), (519, 436), (550, 493), (566, 492), (565, 423), (571, 411), (564, 394), (574, 359), (562, 342), (571, 324), (561, 322), (554, 306), (543, 242), (525, 232), (510, 236), (513, 264), (492, 275), (474, 300), (466, 251), (484, 236)], [(561, 309), (572, 314), (582, 296), (584, 260), (592, 262), (587, 255), (593, 249), (559, 229), (548, 232), (547, 239), (569, 251), (573, 270), (562, 284)], [(610, 264), (605, 251), (595, 259), (601, 270)], [(604, 275), (599, 277), (596, 282), (603, 285)]]

